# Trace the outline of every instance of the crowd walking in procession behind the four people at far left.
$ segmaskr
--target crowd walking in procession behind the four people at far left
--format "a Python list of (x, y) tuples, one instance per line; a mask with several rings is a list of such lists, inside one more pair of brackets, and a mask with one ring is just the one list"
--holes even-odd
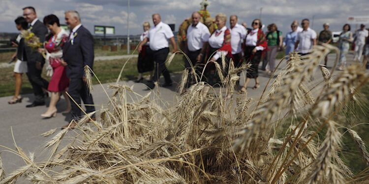
[[(153, 22), (155, 28), (152, 28), (148, 32), (147, 27), (144, 25), (144, 33), (142, 34), (142, 38), (147, 35), (154, 35), (156, 25), (154, 20), (154, 16), (159, 16), (158, 14), (153, 15)], [(160, 16), (159, 16), (160, 17)], [(260, 70), (266, 71), (267, 75), (272, 75), (276, 70), (276, 57), (279, 51), (285, 50), (285, 54), (288, 55), (291, 52), (297, 52), (301, 55), (307, 55), (311, 52), (311, 49), (314, 45), (322, 45), (322, 44), (330, 44), (332, 42), (332, 32), (329, 30), (329, 23), (325, 23), (323, 25), (323, 30), (317, 35), (317, 33), (309, 27), (310, 21), (308, 19), (303, 19), (301, 22), (301, 26), (299, 26), (298, 21), (293, 21), (291, 24), (291, 29), (283, 36), (282, 31), (278, 30), (276, 24), (270, 24), (267, 26), (268, 31), (266, 33), (263, 32), (263, 24), (261, 20), (255, 19), (251, 28), (246, 26), (246, 23), (238, 24), (237, 15), (231, 15), (229, 17), (230, 27), (226, 27), (227, 17), (223, 13), (219, 13), (215, 16), (215, 23), (217, 29), (213, 32), (210, 32), (208, 27), (205, 26), (201, 21), (201, 15), (199, 12), (193, 12), (191, 15), (191, 24), (186, 29), (186, 38), (185, 38), (185, 48), (184, 53), (186, 57), (184, 59), (184, 66), (186, 70), (188, 70), (189, 76), (186, 87), (189, 87), (194, 83), (194, 80), (190, 80), (190, 75), (192, 73), (196, 73), (201, 75), (201, 71), (192, 71), (194, 68), (199, 68), (200, 70), (204, 70), (204, 76), (201, 78), (202, 81), (206, 81), (210, 85), (219, 84), (219, 76), (215, 72), (215, 64), (219, 64), (222, 66), (221, 55), (224, 55), (226, 61), (226, 65), (229, 65), (230, 60), (233, 61), (235, 67), (241, 66), (242, 63), (250, 63), (251, 66), (246, 71), (246, 80), (243, 87), (240, 88), (240, 91), (245, 92), (246, 87), (251, 79), (255, 80), (255, 85), (252, 89), (257, 89), (260, 86), (258, 80), (259, 68)], [(161, 23), (165, 25), (164, 23)], [(167, 26), (166, 26), (167, 27)], [(161, 28), (160, 28), (161, 30)], [(163, 60), (167, 56), (167, 53), (162, 53), (162, 59), (154, 58), (153, 55), (150, 54), (150, 51), (158, 52), (159, 50), (167, 50), (168, 40), (171, 41), (171, 44), (174, 46), (173, 53), (177, 51), (177, 44), (174, 43), (173, 35), (167, 34), (165, 31), (171, 32), (169, 29), (162, 29), (159, 31), (160, 34), (164, 36), (160, 36), (159, 40), (150, 41), (150, 38), (142, 39), (141, 44), (139, 45), (139, 51), (141, 52), (139, 55), (138, 61), (138, 71), (141, 71), (142, 68), (140, 66), (142, 64), (143, 57), (151, 57), (150, 59), (146, 59), (149, 66), (153, 66), (154, 62), (158, 64), (158, 70), (155, 73), (163, 73), (165, 78), (165, 83), (162, 86), (170, 86), (171, 80), (169, 76), (169, 72), (167, 71), (165, 65), (163, 65)], [(160, 35), (159, 34), (159, 35)], [(159, 37), (159, 35), (154, 35), (154, 38)], [(161, 47), (156, 47), (158, 43), (162, 44)], [(368, 58), (368, 31), (365, 29), (365, 26), (362, 25), (361, 29), (356, 31), (355, 40), (353, 38), (353, 33), (350, 32), (350, 25), (346, 24), (343, 26), (343, 30), (339, 35), (338, 40), (338, 48), (340, 49), (340, 58), (338, 63), (338, 70), (343, 70), (346, 67), (346, 58), (345, 55), (348, 53), (350, 48), (350, 44), (355, 44), (355, 60), (361, 61), (361, 53), (364, 50), (364, 59), (363, 63), (366, 63)], [(367, 45), (367, 46), (366, 46)], [(142, 49), (142, 48), (147, 49)], [(149, 54), (148, 54), (149, 53)], [(211, 61), (211, 62), (207, 62)], [(324, 59), (324, 65), (327, 65), (328, 57)], [(262, 62), (259, 67), (260, 62)], [(202, 66), (202, 67), (201, 67)], [(225, 68), (227, 67), (225, 66)], [(151, 69), (154, 69), (152, 67)], [(164, 69), (164, 71), (163, 71)], [(160, 76), (160, 75), (159, 75)], [(150, 77), (148, 79), (147, 85), (150, 89), (154, 88), (154, 81), (158, 81), (158, 75), (154, 75), (154, 78)], [(202, 75), (201, 75), (202, 76)], [(143, 78), (140, 74), (137, 82), (142, 82)]]

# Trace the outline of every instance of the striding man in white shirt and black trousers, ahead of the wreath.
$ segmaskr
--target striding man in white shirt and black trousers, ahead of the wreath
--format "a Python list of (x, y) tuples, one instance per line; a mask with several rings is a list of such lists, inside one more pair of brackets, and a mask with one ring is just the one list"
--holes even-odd
[(173, 46), (172, 53), (175, 54), (177, 52), (177, 44), (174, 40), (173, 31), (167, 24), (161, 22), (160, 14), (153, 14), (153, 23), (154, 26), (149, 30), (148, 36), (138, 46), (138, 52), (141, 52), (142, 46), (150, 41), (149, 46), (153, 51), (153, 59), (156, 62), (156, 69), (152, 81), (147, 84), (150, 89), (154, 89), (154, 82), (160, 79), (161, 74), (163, 74), (165, 79), (165, 83), (161, 86), (172, 86), (172, 79), (170, 79), (169, 71), (165, 66), (165, 60), (169, 53), (168, 40), (170, 40)]

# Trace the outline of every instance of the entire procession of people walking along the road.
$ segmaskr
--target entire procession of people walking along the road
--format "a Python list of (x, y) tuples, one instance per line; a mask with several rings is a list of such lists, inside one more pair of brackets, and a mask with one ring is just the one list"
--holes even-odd
[[(272, 75), (276, 70), (276, 57), (279, 51), (284, 49), (286, 55), (291, 52), (307, 55), (314, 45), (332, 42), (332, 32), (329, 30), (328, 23), (323, 25), (323, 30), (317, 35), (309, 27), (308, 19), (302, 20), (301, 27), (298, 21), (293, 21), (290, 31), (283, 36), (276, 24), (267, 26), (268, 31), (264, 33), (261, 20), (254, 19), (251, 28), (248, 28), (246, 23), (241, 25), (238, 23), (237, 15), (229, 17), (230, 27), (227, 27), (227, 16), (223, 13), (215, 16), (216, 29), (211, 32), (201, 22), (201, 16), (199, 12), (193, 12), (191, 24), (186, 29), (184, 66), (188, 71), (187, 88), (195, 81), (204, 81), (210, 85), (221, 84), (216, 67), (225, 68), (227, 71), (230, 62), (233, 62), (236, 68), (243, 63), (250, 64), (250, 67), (246, 69), (245, 83), (240, 87), (240, 91), (246, 92), (251, 79), (255, 80), (252, 89), (257, 89), (260, 87), (259, 68), (266, 71), (268, 75)], [(25, 38), (21, 34), (13, 42), (13, 45), (17, 47), (17, 52), (13, 56), (17, 60), (14, 67), (16, 88), (9, 104), (22, 102), (20, 95), (22, 74), (26, 73), (34, 92), (34, 101), (26, 107), (45, 105), (45, 96), (48, 91), (51, 93), (50, 105), (46, 112), (41, 114), (42, 117), (56, 116), (57, 103), (63, 95), (67, 102), (65, 113), (70, 112), (72, 118), (78, 120), (82, 114), (80, 107), (76, 104), (81, 104), (81, 99), (86, 106), (85, 112), (95, 111), (92, 95), (86, 85), (84, 69), (86, 65), (91, 70), (93, 69), (93, 37), (90, 31), (82, 26), (77, 11), (66, 11), (64, 19), (70, 33), (61, 28), (59, 18), (53, 14), (45, 16), (42, 23), (31, 6), (23, 8), (23, 17), (15, 20), (18, 30), (33, 32), (44, 44), (43, 47), (34, 50), (25, 43)], [(170, 52), (169, 44), (172, 45), (173, 54), (178, 51), (170, 26), (161, 21), (160, 14), (153, 14), (152, 19), (154, 26), (151, 27), (149, 22), (143, 24), (144, 32), (138, 45), (139, 76), (136, 80), (136, 82), (144, 82), (143, 73), (150, 72), (150, 78), (145, 81), (149, 89), (154, 89), (161, 74), (165, 79), (165, 82), (161, 84), (162, 87), (173, 85), (165, 61)], [(338, 40), (338, 48), (341, 51), (339, 70), (346, 67), (345, 55), (351, 43), (355, 44), (355, 59), (361, 60), (364, 52), (363, 62), (366, 63), (368, 60), (368, 30), (365, 29), (365, 25), (361, 25), (355, 35), (354, 37), (350, 25), (346, 24), (342, 27)], [(225, 63), (222, 62), (222, 57), (225, 58)], [(325, 65), (327, 61), (326, 57)], [(260, 62), (262, 64), (259, 67)], [(50, 81), (41, 77), (45, 63), (48, 73), (51, 74)], [(224, 64), (226, 66), (223, 66)], [(192, 74), (201, 77), (199, 80), (192, 79)], [(69, 95), (65, 93), (66, 91)], [(69, 96), (75, 103), (70, 103)], [(75, 126), (74, 121), (71, 123), (70, 126)]]

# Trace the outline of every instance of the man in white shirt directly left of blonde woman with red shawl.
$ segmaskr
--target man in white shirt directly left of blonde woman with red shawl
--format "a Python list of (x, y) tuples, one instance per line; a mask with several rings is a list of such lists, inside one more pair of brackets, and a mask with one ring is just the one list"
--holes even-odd
[(193, 81), (190, 80), (191, 68), (195, 67), (196, 62), (201, 62), (205, 53), (206, 43), (209, 40), (210, 32), (207, 26), (200, 22), (201, 15), (198, 12), (193, 12), (192, 24), (187, 28), (187, 42), (186, 42), (186, 54), (187, 58), (184, 61), (184, 67), (188, 70), (188, 87)]

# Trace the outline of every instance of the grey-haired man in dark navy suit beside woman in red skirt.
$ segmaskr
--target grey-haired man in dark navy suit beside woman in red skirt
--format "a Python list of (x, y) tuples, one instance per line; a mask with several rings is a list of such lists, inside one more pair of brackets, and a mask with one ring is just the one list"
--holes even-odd
[[(77, 11), (65, 12), (65, 23), (70, 28), (69, 41), (63, 47), (62, 63), (66, 65), (66, 75), (70, 79), (69, 95), (81, 105), (81, 99), (86, 106), (86, 112), (95, 111), (92, 95), (88, 91), (84, 67), (93, 66), (93, 37), (89, 30), (81, 24)], [(80, 108), (72, 103), (72, 118), (81, 117)], [(75, 126), (73, 123), (72, 127)]]

